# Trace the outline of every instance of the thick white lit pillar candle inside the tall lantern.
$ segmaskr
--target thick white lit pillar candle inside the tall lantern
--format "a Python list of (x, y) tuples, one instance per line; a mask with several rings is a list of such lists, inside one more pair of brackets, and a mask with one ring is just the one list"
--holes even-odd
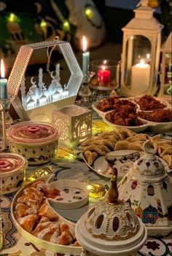
[(150, 65), (141, 60), (132, 66), (131, 88), (136, 93), (144, 93), (149, 88)]

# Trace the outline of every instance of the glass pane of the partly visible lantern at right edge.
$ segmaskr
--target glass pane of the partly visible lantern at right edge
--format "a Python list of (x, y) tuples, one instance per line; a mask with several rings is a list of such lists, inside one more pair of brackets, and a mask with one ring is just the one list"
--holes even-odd
[(164, 94), (172, 95), (172, 53), (165, 53)]

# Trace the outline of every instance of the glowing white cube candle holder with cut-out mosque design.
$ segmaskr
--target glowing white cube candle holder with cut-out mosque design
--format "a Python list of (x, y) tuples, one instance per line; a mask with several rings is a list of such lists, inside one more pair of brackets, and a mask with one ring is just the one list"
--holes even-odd
[(90, 139), (92, 111), (82, 106), (69, 105), (52, 112), (52, 123), (60, 132), (59, 142), (70, 147)]

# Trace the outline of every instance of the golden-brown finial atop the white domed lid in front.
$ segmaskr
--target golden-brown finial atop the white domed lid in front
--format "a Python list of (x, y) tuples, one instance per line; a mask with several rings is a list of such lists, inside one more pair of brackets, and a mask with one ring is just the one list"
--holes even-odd
[(106, 158), (106, 161), (109, 163), (109, 166), (111, 166), (113, 170), (113, 175), (111, 179), (111, 187), (109, 188), (109, 192), (107, 194), (107, 201), (109, 204), (116, 204), (117, 199), (119, 196), (118, 190), (117, 190), (117, 168), (114, 167), (114, 161), (109, 160)]

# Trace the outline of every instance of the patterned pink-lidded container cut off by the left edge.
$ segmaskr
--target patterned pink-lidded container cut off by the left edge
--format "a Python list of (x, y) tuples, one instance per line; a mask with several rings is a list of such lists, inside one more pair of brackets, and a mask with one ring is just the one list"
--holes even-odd
[(11, 153), (0, 155), (0, 194), (13, 193), (19, 190), (25, 179), (28, 166), (26, 158)]

